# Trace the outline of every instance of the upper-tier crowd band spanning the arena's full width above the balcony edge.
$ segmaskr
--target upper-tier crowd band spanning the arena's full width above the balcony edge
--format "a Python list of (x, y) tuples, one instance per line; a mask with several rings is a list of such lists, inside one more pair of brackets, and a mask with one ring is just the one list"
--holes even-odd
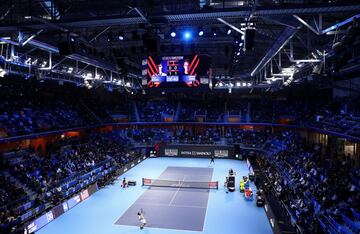
[[(4, 87), (2, 87), (4, 88)], [(114, 122), (287, 123), (360, 135), (357, 99), (66, 100), (7, 86), (0, 93), (0, 138)]]

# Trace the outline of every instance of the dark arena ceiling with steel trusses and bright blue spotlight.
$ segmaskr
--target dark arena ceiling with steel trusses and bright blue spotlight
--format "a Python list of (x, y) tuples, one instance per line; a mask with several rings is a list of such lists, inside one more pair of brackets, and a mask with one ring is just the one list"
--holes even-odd
[[(359, 12), (358, 1), (336, 0), (11, 0), (0, 5), (0, 40), (2, 52), (11, 45), (19, 56), (44, 61), (39, 73), (55, 71), (54, 79), (64, 73), (70, 79), (69, 67), (76, 67), (76, 72), (100, 70), (101, 77), (111, 76), (106, 82), (134, 84), (141, 60), (151, 53), (198, 53), (209, 58), (214, 77), (260, 84), (273, 64), (287, 68), (314, 60), (311, 54), (341, 37), (342, 23)], [(244, 51), (247, 27), (256, 28), (255, 41)], [(184, 41), (187, 30), (192, 39)], [(144, 45), (144, 35), (157, 39), (156, 52)], [(76, 41), (71, 56), (58, 54), (64, 40)]]

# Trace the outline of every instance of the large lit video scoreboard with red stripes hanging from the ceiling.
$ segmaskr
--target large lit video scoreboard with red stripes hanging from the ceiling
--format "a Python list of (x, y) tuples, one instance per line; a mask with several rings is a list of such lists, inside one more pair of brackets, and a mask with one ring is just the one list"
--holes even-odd
[(198, 87), (200, 58), (194, 56), (163, 56), (146, 59), (147, 86)]

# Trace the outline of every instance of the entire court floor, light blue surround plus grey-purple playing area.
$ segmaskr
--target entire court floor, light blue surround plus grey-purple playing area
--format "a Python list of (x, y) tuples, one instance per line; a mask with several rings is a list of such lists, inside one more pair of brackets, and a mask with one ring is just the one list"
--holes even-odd
[[(255, 200), (246, 201), (239, 190), (225, 192), (230, 168), (237, 174), (238, 189), (239, 180), (248, 173), (244, 161), (219, 159), (210, 167), (209, 159), (146, 159), (37, 233), (272, 233), (264, 208), (258, 208)], [(137, 186), (121, 188), (123, 177), (136, 180)], [(219, 181), (219, 189), (142, 187), (143, 177)], [(141, 208), (148, 222), (143, 230), (136, 215)]]

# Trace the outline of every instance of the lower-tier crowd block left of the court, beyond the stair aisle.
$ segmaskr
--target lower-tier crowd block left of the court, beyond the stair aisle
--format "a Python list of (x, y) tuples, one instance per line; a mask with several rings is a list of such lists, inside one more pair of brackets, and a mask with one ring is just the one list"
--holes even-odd
[(33, 191), (50, 197), (52, 194), (49, 191), (65, 178), (85, 173), (105, 159), (107, 155), (103, 144), (94, 138), (83, 144), (68, 145), (46, 157), (34, 154), (28, 160), (13, 165), (10, 172)]

